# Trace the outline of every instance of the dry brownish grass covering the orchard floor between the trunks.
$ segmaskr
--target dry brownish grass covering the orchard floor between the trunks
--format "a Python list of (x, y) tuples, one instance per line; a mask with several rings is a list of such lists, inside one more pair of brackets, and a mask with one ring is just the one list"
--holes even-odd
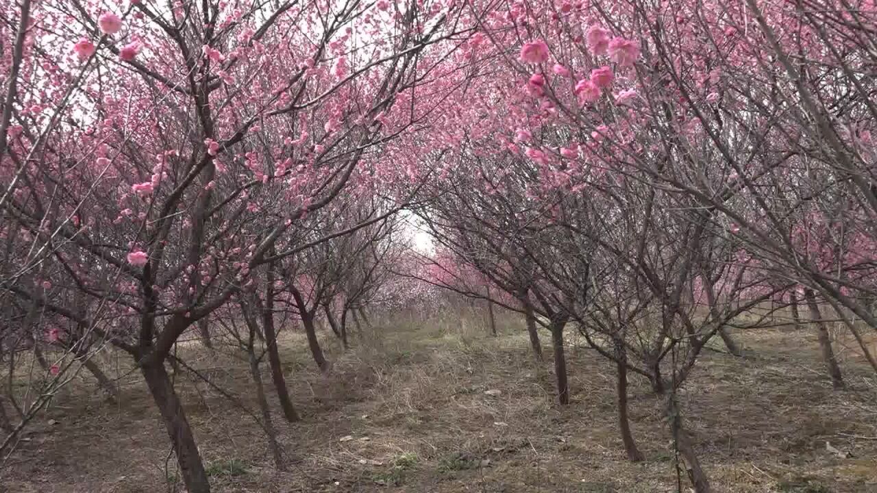
[[(289, 463), (284, 473), (275, 472), (250, 414), (256, 408), (243, 362), (231, 349), (180, 349), (248, 410), (177, 375), (214, 491), (676, 490), (663, 401), (645, 382), (631, 382), (632, 426), (647, 460), (624, 461), (613, 368), (577, 341), (568, 350), (573, 403), (560, 408), (551, 364), (531, 361), (519, 325), (503, 325), (498, 339), (478, 324), (375, 325), (382, 328), (354, 337), (347, 353), (321, 334), (335, 361), (328, 376), (310, 361), (299, 334), (282, 338), (289, 387), (304, 416), (288, 424), (275, 412)], [(681, 395), (715, 490), (877, 491), (873, 372), (844, 353), (850, 389), (834, 391), (815, 336), (777, 330), (739, 337), (752, 356), (704, 354)], [(175, 468), (160, 418), (138, 375), (122, 382), (118, 405), (103, 402), (91, 382), (59, 396), (7, 464), (0, 491), (171, 490)], [(488, 389), (501, 394), (485, 395)], [(347, 435), (353, 439), (339, 441)], [(825, 442), (852, 455), (831, 454)]]

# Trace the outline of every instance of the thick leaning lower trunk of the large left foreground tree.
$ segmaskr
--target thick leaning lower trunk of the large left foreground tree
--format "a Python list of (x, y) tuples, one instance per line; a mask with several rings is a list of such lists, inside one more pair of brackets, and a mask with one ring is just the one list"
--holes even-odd
[(207, 473), (204, 472), (192, 428), (163, 362), (144, 365), (140, 371), (161, 417), (164, 418), (186, 490), (188, 493), (210, 493), (210, 482), (207, 481)]

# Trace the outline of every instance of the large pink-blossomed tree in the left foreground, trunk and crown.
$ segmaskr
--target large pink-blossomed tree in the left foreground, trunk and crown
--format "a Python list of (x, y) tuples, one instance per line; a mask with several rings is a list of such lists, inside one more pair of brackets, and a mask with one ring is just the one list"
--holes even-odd
[[(183, 481), (208, 491), (164, 361), (189, 326), (253, 286), (253, 269), (346, 189), (370, 147), (417, 122), (414, 93), (453, 48), (454, 11), (356, 0), (4, 9), (18, 25), (4, 46), (4, 297), (130, 354)], [(61, 302), (67, 292), (82, 311)]]

